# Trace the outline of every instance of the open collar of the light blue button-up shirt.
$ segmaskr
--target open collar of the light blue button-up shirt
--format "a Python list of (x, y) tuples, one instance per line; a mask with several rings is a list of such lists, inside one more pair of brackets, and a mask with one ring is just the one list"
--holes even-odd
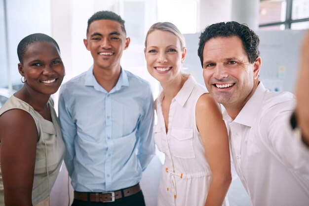
[[(95, 77), (93, 75), (93, 65), (86, 71), (85, 86), (93, 86), (94, 89), (96, 89), (98, 91), (102, 91), (102, 90), (105, 91), (105, 89), (102, 88), (102, 86), (97, 82), (97, 80), (95, 79)], [(129, 79), (128, 79), (128, 76), (127, 76), (125, 70), (123, 70), (120, 67), (119, 79), (118, 79), (115, 87), (110, 91), (110, 93), (115, 92), (117, 90), (120, 90), (120, 88), (122, 86), (129, 86)]]

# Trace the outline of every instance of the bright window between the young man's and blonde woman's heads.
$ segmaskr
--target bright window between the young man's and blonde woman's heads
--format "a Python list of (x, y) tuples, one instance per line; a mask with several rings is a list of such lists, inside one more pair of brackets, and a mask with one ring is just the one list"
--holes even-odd
[[(197, 3), (199, 0), (115, 0), (116, 13), (125, 20), (129, 48), (124, 51), (121, 65), (124, 69), (150, 82), (154, 97), (160, 86), (148, 72), (144, 56), (144, 42), (148, 29), (156, 22), (169, 21), (183, 34), (197, 32)], [(177, 9), (171, 9), (177, 5)], [(188, 15), (194, 14), (194, 15)]]

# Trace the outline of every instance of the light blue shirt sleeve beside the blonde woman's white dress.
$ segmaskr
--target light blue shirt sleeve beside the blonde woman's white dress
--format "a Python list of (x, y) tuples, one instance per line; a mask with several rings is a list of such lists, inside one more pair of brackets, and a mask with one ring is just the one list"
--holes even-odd
[(154, 146), (154, 98), (150, 86), (147, 89), (147, 98), (144, 103), (144, 115), (138, 123), (137, 137), (138, 154), (142, 170), (144, 171), (155, 154)]

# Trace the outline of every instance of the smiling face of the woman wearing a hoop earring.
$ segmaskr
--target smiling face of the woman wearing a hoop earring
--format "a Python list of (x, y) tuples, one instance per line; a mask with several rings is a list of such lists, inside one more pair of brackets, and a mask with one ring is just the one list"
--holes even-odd
[(60, 52), (47, 41), (30, 44), (18, 70), (25, 76), (27, 88), (46, 95), (57, 92), (65, 75)]

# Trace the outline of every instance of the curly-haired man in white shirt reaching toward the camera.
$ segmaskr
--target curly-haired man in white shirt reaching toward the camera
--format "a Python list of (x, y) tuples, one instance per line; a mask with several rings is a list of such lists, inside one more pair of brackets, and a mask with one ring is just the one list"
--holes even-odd
[[(198, 48), (205, 84), (226, 108), (234, 166), (252, 205), (308, 206), (309, 81), (300, 79), (297, 104), (291, 93), (266, 90), (258, 45), (258, 36), (237, 22), (206, 27)], [(303, 51), (308, 78), (309, 36)]]

